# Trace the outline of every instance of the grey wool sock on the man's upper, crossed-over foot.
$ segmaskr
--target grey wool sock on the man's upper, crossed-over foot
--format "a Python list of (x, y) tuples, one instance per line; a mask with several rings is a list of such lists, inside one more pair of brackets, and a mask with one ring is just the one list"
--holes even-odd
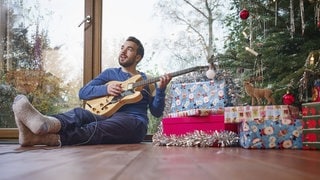
[(12, 110), (16, 122), (21, 122), (36, 135), (58, 133), (61, 128), (61, 123), (58, 119), (42, 115), (32, 106), (28, 98), (24, 95), (16, 96)]

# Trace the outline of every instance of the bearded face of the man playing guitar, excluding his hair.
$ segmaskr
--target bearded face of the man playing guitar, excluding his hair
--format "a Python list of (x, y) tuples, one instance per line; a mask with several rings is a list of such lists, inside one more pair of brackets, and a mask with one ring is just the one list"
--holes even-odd
[(138, 46), (132, 41), (125, 41), (121, 46), (121, 51), (119, 55), (119, 64), (123, 67), (130, 67), (136, 65), (141, 56), (137, 54)]

